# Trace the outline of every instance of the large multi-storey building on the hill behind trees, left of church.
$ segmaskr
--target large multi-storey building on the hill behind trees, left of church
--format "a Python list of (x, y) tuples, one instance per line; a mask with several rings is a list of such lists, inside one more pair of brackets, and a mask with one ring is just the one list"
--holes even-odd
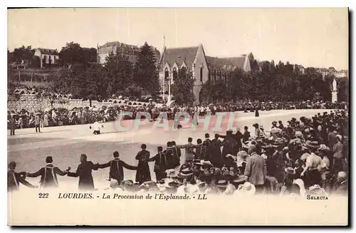
[[(153, 48), (157, 62), (159, 61), (159, 51), (157, 48)], [(105, 63), (105, 59), (110, 53), (121, 54), (127, 56), (129, 61), (136, 63), (138, 53), (140, 53), (140, 47), (132, 46), (126, 43), (120, 43), (119, 41), (113, 41), (105, 43), (103, 46), (98, 46), (98, 63)]]

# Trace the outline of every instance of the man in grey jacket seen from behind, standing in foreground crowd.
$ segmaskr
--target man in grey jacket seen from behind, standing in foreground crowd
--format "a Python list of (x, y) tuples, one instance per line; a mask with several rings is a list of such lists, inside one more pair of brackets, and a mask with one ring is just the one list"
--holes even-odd
[(261, 155), (257, 154), (256, 145), (250, 145), (249, 150), (251, 151), (251, 157), (247, 160), (244, 175), (248, 177), (248, 182), (255, 185), (256, 193), (261, 193), (267, 175), (266, 162)]

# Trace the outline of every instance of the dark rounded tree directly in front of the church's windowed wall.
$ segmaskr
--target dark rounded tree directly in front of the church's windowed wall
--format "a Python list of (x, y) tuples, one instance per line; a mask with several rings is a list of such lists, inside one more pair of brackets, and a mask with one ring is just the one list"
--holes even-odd
[(178, 71), (178, 78), (172, 84), (172, 94), (179, 105), (191, 104), (194, 102), (193, 93), (194, 79), (192, 71), (181, 68)]

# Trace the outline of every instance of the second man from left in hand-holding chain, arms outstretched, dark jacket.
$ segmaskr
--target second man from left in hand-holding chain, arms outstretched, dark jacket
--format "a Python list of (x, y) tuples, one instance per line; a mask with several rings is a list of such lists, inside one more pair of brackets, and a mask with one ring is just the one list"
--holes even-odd
[(53, 158), (52, 156), (47, 156), (46, 157), (46, 166), (41, 167), (40, 170), (38, 170), (37, 172), (34, 173), (26, 173), (27, 177), (38, 177), (41, 175), (41, 180), (40, 180), (40, 184), (41, 187), (58, 187), (58, 178), (57, 175), (67, 175), (68, 170), (70, 170), (70, 167), (68, 167), (67, 170), (62, 171), (61, 169), (59, 169), (58, 167), (54, 166), (52, 164), (53, 162)]

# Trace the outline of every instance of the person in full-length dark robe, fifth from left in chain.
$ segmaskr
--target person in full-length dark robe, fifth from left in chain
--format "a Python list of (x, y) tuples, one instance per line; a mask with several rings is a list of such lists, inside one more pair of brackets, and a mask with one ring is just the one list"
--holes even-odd
[(146, 144), (141, 145), (141, 151), (137, 153), (136, 160), (138, 160), (136, 182), (140, 185), (143, 182), (151, 180), (150, 167), (148, 166), (148, 159), (150, 158), (150, 152), (146, 150)]

